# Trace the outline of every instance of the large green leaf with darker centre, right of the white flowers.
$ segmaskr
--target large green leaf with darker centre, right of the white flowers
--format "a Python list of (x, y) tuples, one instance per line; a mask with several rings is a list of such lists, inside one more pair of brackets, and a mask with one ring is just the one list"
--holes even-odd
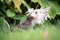
[(48, 2), (49, 5), (51, 6), (51, 11), (49, 11), (50, 16), (54, 18), (56, 14), (60, 15), (60, 6), (57, 2)]

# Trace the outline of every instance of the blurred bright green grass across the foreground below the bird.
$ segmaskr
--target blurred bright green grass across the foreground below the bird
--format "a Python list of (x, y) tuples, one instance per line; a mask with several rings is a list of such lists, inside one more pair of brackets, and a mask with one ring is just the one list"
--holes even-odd
[[(47, 25), (48, 24), (48, 25)], [(48, 27), (49, 26), (49, 27)], [(43, 33), (48, 31), (48, 40), (60, 40), (60, 24), (52, 25), (49, 22), (44, 23), (39, 28), (29, 30), (15, 30), (13, 32), (0, 32), (0, 40), (44, 40)]]

